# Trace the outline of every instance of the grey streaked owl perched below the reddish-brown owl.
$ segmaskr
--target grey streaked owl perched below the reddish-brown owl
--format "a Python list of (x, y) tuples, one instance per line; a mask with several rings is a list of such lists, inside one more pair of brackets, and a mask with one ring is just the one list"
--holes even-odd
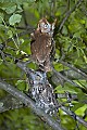
[(27, 78), (30, 84), (28, 94), (36, 102), (37, 107), (50, 115), (55, 114), (58, 112), (58, 102), (46, 73), (30, 69), (27, 72)]

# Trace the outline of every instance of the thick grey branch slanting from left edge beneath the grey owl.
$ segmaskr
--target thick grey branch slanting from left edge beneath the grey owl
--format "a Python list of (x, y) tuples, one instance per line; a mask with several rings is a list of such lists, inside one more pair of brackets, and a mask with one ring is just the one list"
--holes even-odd
[(28, 98), (25, 93), (21, 92), (16, 88), (12, 87), (11, 84), (8, 84), (7, 82), (2, 81), (0, 79), (0, 88), (12, 94), (14, 98), (20, 100), (22, 103), (24, 103), (27, 106), (30, 106), (30, 108), (38, 115), (39, 117), (42, 117), (44, 120), (47, 121), (49, 126), (51, 126), (54, 130), (63, 130), (59, 122), (57, 122), (52, 117), (45, 114), (40, 108), (38, 108), (34, 101)]

